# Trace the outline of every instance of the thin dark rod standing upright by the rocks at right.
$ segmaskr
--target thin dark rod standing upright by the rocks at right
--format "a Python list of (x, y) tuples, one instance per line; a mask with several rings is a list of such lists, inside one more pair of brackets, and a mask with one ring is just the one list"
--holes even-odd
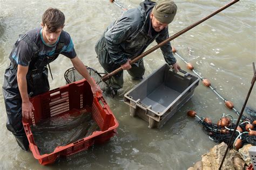
[(231, 142), (232, 142), (232, 140), (233, 140), (235, 131), (237, 130), (237, 127), (238, 127), (238, 125), (239, 125), (240, 119), (241, 119), (241, 117), (242, 117), (242, 112), (244, 112), (244, 110), (245, 110), (246, 103), (247, 103), (247, 101), (248, 101), (248, 98), (250, 97), (250, 94), (251, 94), (251, 92), (252, 92), (252, 88), (253, 88), (253, 86), (254, 86), (254, 82), (255, 82), (255, 80), (256, 80), (256, 72), (255, 72), (254, 62), (252, 63), (252, 66), (253, 66), (253, 74), (254, 74), (254, 75), (253, 75), (253, 78), (252, 78), (251, 87), (250, 87), (250, 90), (248, 91), (248, 94), (247, 94), (247, 96), (246, 96), (244, 105), (242, 106), (242, 110), (241, 110), (240, 115), (239, 115), (239, 117), (238, 117), (237, 124), (235, 125), (234, 131), (233, 131), (232, 136), (231, 136), (231, 138), (230, 138), (230, 141), (228, 141), (228, 145), (227, 145), (227, 148), (226, 148), (226, 152), (225, 152), (225, 154), (224, 154), (224, 156), (223, 156), (223, 159), (222, 159), (222, 161), (221, 161), (219, 170), (221, 169), (221, 167), (222, 167), (222, 165), (223, 165), (223, 163), (224, 163), (224, 160), (225, 160), (226, 155), (227, 155), (228, 148), (230, 148), (230, 145), (231, 145)]

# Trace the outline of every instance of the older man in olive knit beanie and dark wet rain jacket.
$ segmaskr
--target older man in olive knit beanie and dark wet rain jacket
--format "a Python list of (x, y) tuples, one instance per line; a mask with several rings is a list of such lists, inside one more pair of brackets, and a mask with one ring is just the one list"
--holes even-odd
[[(169, 38), (168, 24), (172, 22), (177, 6), (172, 1), (154, 3), (145, 1), (136, 9), (126, 11), (110, 24), (98, 40), (95, 50), (105, 72), (122, 67), (135, 79), (140, 80), (145, 68), (143, 59), (130, 65), (131, 59), (142, 54), (154, 40), (157, 43)], [(161, 47), (165, 61), (178, 72), (180, 69), (172, 54), (170, 42)], [(123, 87), (123, 72), (112, 76), (110, 86), (117, 91)]]

